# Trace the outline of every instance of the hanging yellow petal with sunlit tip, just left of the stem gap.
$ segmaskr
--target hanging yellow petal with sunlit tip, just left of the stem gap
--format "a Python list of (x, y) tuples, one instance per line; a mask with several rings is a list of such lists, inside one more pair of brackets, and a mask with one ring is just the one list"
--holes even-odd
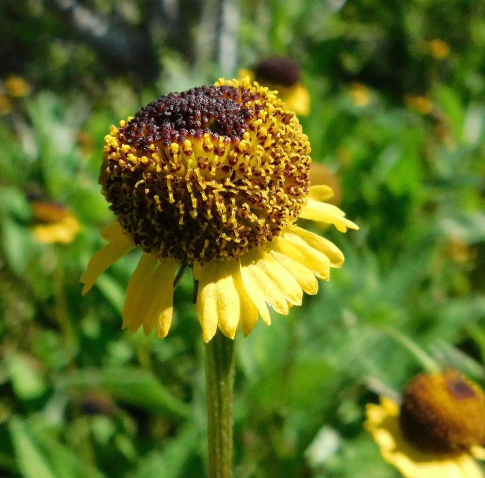
[(157, 334), (163, 339), (167, 336), (173, 317), (174, 279), (178, 261), (163, 259), (155, 268), (151, 278), (150, 290), (146, 294), (143, 331), (149, 335), (155, 325)]

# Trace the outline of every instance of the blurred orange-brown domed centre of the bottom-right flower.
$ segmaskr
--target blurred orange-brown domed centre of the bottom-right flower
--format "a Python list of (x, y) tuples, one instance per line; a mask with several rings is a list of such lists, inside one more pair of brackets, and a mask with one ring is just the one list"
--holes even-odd
[(417, 448), (433, 452), (469, 449), (485, 443), (485, 394), (450, 369), (422, 373), (403, 395), (400, 424)]

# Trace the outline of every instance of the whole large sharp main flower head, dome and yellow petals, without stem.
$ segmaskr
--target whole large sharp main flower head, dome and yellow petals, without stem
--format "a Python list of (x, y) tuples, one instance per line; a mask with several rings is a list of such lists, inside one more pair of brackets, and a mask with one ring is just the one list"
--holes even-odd
[(112, 126), (100, 183), (117, 222), (109, 243), (81, 277), (86, 293), (110, 264), (139, 246), (123, 324), (165, 337), (172, 322), (174, 279), (190, 266), (197, 314), (209, 341), (219, 328), (234, 338), (269, 304), (287, 314), (303, 292), (317, 292), (343, 262), (330, 241), (294, 223), (298, 217), (355, 228), (310, 187), (310, 146), (294, 113), (274, 92), (245, 80), (173, 93)]

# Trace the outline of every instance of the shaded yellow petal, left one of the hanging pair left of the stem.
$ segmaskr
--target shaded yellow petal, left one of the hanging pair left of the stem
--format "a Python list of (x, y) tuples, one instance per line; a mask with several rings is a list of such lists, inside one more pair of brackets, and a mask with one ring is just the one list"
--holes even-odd
[(155, 255), (144, 253), (129, 279), (123, 305), (123, 327), (128, 327), (131, 333), (135, 333), (144, 323), (146, 301), (153, 284), (157, 261)]

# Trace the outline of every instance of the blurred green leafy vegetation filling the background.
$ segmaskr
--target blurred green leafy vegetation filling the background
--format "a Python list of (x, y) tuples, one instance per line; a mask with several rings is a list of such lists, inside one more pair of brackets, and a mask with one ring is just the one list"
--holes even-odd
[(166, 339), (120, 328), (136, 252), (81, 297), (111, 213), (109, 125), (171, 91), (299, 63), (315, 170), (360, 231), (288, 317), (237, 337), (236, 476), (398, 476), (364, 406), (425, 364), (483, 384), (485, 4), (3, 0), (0, 474), (205, 475), (203, 342), (186, 274)]

